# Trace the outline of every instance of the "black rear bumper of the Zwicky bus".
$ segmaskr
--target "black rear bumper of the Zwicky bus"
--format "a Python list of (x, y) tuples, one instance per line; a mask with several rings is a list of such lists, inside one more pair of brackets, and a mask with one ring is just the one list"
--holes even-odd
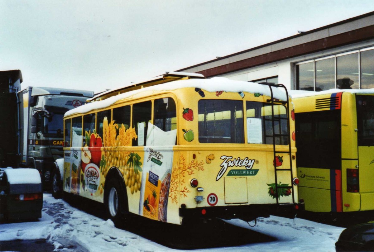
[(242, 219), (252, 221), (270, 215), (295, 218), (298, 211), (304, 210), (304, 204), (256, 204), (236, 206), (211, 206), (198, 208), (180, 208), (179, 216), (183, 219)]

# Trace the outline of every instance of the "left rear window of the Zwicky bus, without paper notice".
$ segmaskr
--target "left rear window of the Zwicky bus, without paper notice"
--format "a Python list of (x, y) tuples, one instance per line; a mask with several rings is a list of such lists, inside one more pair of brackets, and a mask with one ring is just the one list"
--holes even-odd
[(200, 143), (244, 143), (243, 102), (236, 100), (200, 100)]

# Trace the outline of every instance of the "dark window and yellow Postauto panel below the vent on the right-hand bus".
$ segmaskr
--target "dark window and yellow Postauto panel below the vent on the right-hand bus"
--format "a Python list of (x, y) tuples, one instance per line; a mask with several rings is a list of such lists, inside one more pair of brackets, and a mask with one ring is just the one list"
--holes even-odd
[(296, 113), (299, 198), (305, 210), (341, 212), (341, 110)]

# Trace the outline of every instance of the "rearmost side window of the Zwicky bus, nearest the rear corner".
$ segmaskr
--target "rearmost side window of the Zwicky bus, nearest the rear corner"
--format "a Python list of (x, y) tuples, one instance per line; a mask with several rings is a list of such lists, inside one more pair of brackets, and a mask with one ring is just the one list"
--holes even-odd
[(163, 131), (177, 129), (177, 110), (172, 98), (154, 100), (153, 122)]

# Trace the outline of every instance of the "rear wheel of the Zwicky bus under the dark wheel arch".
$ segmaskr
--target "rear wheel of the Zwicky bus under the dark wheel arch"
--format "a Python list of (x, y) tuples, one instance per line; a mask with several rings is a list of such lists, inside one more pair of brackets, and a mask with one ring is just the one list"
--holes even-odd
[(108, 219), (114, 224), (119, 224), (125, 218), (123, 209), (125, 209), (125, 191), (118, 179), (112, 178), (105, 182), (104, 204)]

